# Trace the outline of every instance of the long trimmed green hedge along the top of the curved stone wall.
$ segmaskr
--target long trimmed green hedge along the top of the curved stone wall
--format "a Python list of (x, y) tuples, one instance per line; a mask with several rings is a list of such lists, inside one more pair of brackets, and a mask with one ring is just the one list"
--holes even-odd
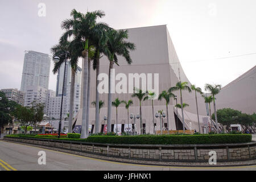
[(31, 135), (7, 135), (6, 137), (72, 140), (78, 142), (116, 144), (225, 144), (251, 142), (251, 134), (90, 136), (87, 139), (36, 137)]

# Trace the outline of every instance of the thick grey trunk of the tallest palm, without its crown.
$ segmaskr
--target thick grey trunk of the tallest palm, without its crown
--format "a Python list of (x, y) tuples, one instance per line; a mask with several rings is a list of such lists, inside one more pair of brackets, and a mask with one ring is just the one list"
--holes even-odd
[(84, 68), (83, 68), (83, 88), (82, 88), (82, 129), (81, 129), (81, 138), (87, 138), (86, 135), (86, 106), (87, 106), (87, 87), (88, 87), (88, 51), (86, 51), (84, 56)]

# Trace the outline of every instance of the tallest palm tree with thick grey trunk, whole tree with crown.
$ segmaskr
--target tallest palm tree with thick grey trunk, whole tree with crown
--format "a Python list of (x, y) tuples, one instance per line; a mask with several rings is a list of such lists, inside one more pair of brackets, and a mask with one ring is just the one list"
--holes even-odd
[[(81, 104), (82, 104), (82, 132), (81, 138), (86, 138), (89, 135), (89, 121), (86, 118), (89, 118), (89, 93), (90, 85), (88, 84), (88, 80), (90, 79), (88, 74), (88, 69), (90, 67), (90, 59), (89, 57), (89, 49), (90, 46), (93, 46), (93, 36), (94, 36), (94, 28), (97, 27), (97, 18), (102, 18), (104, 16), (103, 11), (93, 11), (88, 12), (86, 14), (82, 14), (77, 12), (75, 9), (71, 11), (72, 19), (64, 20), (62, 24), (62, 28), (66, 30), (72, 30), (71, 34), (75, 36), (76, 39), (80, 40), (83, 43), (82, 48), (82, 90), (81, 93)], [(87, 108), (88, 106), (88, 108)]]

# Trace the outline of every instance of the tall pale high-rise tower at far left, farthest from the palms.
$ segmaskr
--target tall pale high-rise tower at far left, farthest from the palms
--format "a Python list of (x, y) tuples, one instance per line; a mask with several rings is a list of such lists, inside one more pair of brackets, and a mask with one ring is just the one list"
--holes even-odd
[(20, 90), (26, 92), (28, 86), (48, 89), (50, 67), (51, 59), (48, 54), (25, 51)]

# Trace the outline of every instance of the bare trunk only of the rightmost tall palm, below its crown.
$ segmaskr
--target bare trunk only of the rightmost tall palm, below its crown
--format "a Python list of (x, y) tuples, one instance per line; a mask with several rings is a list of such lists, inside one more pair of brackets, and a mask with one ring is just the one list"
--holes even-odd
[(110, 61), (110, 64), (109, 64), (109, 93), (108, 93), (108, 121), (107, 121), (108, 133), (111, 132), (111, 110), (112, 110), (111, 82), (112, 82), (113, 65), (114, 65), (114, 61)]

